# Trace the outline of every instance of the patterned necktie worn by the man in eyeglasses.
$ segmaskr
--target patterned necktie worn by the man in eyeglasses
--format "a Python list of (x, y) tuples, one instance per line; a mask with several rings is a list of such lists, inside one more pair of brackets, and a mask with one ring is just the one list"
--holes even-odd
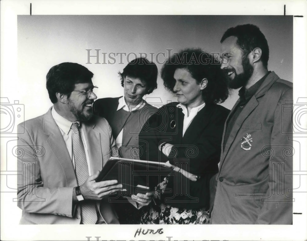
[[(79, 124), (76, 122), (73, 123), (71, 129), (73, 130), (72, 148), (75, 157), (76, 177), (78, 185), (80, 186), (89, 177), (88, 167), (87, 167), (83, 142), (80, 136)], [(97, 221), (97, 213), (94, 201), (85, 200), (83, 203), (80, 203), (80, 208), (81, 208), (81, 223), (95, 224)]]

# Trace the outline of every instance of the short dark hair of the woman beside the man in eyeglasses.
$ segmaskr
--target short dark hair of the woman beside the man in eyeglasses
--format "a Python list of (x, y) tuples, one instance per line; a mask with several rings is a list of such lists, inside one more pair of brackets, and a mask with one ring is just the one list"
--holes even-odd
[(149, 87), (148, 94), (152, 93), (157, 88), (158, 68), (153, 62), (150, 62), (145, 57), (139, 57), (130, 61), (123, 69), (122, 73), (118, 72), (122, 87), (124, 87), (124, 79), (126, 76), (138, 78), (146, 83)]

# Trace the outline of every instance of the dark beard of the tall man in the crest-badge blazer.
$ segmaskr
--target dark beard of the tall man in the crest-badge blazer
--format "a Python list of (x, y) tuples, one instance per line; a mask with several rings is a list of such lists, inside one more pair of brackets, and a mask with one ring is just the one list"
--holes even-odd
[[(234, 69), (232, 70), (235, 73), (235, 77), (233, 80), (229, 79), (228, 85), (231, 89), (238, 89), (242, 86), (245, 86), (247, 84), (247, 81), (251, 78), (254, 72), (254, 68), (250, 64), (247, 54), (242, 57), (242, 67), (243, 67), (243, 73), (238, 75)], [(227, 70), (227, 72), (229, 72), (229, 70)]]

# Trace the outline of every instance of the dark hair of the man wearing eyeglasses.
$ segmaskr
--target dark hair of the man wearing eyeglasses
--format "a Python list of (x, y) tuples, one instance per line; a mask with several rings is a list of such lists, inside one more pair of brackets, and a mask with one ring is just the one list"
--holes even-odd
[(49, 99), (52, 103), (56, 103), (56, 92), (65, 94), (69, 98), (75, 84), (90, 83), (93, 75), (86, 67), (77, 63), (65, 62), (53, 66), (46, 76)]

